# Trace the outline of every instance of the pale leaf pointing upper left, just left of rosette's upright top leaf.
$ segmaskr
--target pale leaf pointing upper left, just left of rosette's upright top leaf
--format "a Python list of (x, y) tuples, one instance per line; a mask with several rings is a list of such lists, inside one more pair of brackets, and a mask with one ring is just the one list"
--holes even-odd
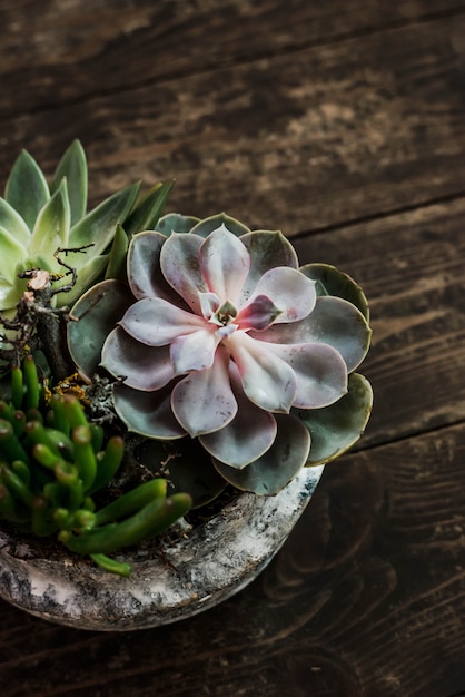
[(160, 252), (160, 268), (169, 285), (200, 314), (199, 293), (208, 291), (198, 263), (204, 239), (192, 233), (171, 235)]

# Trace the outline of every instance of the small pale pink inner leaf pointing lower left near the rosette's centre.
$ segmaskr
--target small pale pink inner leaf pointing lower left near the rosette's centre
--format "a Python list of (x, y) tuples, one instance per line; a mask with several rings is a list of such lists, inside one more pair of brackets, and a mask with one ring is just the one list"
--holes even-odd
[(219, 342), (220, 337), (215, 334), (215, 325), (176, 337), (170, 350), (175, 374), (184, 375), (189, 371), (211, 367)]

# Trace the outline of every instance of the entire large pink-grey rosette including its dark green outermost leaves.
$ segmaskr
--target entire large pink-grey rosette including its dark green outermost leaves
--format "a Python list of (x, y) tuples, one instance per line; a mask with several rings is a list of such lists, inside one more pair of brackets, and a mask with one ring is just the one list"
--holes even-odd
[(166, 215), (72, 314), (81, 374), (113, 376), (144, 462), (169, 460), (198, 503), (226, 482), (274, 494), (350, 448), (369, 418), (356, 372), (370, 341), (365, 295), (332, 266), (299, 267), (280, 232)]

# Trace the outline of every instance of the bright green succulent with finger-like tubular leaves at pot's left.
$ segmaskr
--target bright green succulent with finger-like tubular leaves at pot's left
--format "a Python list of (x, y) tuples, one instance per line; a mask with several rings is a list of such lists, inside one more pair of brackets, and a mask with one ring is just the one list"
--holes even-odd
[(11, 371), (11, 400), (0, 402), (0, 518), (39, 537), (55, 534), (108, 571), (131, 567), (108, 557), (162, 532), (191, 505), (167, 497), (167, 481), (150, 479), (96, 509), (95, 494), (113, 481), (125, 454), (120, 436), (105, 441), (79, 400), (49, 393), (34, 360)]

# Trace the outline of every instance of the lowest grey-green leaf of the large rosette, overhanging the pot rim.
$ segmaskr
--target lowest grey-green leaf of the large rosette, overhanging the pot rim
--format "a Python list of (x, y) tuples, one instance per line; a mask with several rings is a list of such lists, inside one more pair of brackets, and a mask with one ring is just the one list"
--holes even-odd
[(271, 448), (243, 470), (214, 459), (218, 472), (237, 489), (273, 495), (288, 484), (307, 462), (310, 436), (291, 414), (277, 414), (278, 432)]

